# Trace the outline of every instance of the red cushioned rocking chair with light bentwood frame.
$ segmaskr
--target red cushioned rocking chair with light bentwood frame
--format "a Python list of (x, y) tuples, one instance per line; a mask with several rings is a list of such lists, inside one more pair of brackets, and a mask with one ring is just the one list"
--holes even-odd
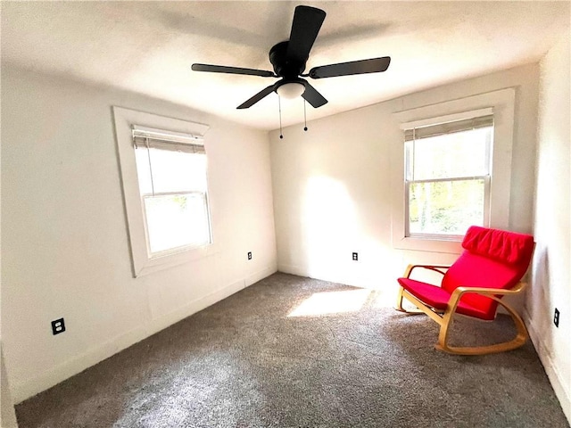
[[(459, 355), (484, 355), (515, 350), (527, 340), (527, 330), (517, 312), (501, 300), (507, 294), (521, 292), (525, 275), (534, 252), (534, 237), (513, 232), (470, 226), (462, 241), (464, 251), (448, 266), (409, 265), (397, 300), (397, 310), (425, 313), (440, 325), (437, 350)], [(440, 286), (410, 278), (416, 268), (429, 269), (443, 275)], [(410, 300), (420, 311), (402, 308), (402, 299)], [(508, 342), (478, 347), (455, 347), (448, 344), (448, 333), (454, 314), (482, 320), (493, 320), (498, 304), (513, 318), (517, 334)]]

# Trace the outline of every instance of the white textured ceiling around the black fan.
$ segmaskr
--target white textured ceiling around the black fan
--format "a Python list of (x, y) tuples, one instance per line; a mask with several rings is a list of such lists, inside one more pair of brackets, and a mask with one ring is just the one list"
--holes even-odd
[[(278, 127), (277, 95), (236, 106), (273, 78), (190, 70), (193, 62), (272, 70), (298, 2), (2, 2), (2, 62), (115, 86), (245, 125)], [(569, 28), (564, 2), (305, 2), (327, 12), (307, 70), (391, 56), (384, 73), (310, 80), (328, 100), (308, 119), (536, 62)], [(302, 101), (282, 101), (284, 126)]]

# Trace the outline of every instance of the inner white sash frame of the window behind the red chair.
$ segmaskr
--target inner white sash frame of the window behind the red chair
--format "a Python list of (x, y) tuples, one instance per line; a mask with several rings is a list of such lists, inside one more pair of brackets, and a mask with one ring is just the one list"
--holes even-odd
[[(480, 109), (477, 111), (463, 111), (458, 114), (452, 114), (444, 117), (433, 118), (428, 120), (420, 120), (410, 123), (402, 123), (401, 129), (403, 130), (414, 130), (422, 127), (429, 127), (432, 125), (440, 125), (455, 122), (458, 120), (464, 119), (477, 119), (484, 116), (492, 116), (493, 110), (489, 109)], [(467, 131), (469, 129), (466, 129)], [(414, 135), (414, 134), (413, 134)], [(417, 141), (421, 141), (420, 140)], [(493, 140), (493, 136), (492, 136)], [(406, 144), (406, 142), (405, 142)], [(422, 144), (422, 143), (419, 143)], [(414, 144), (413, 144), (414, 147)], [(405, 237), (408, 238), (417, 238), (417, 239), (432, 239), (432, 240), (444, 240), (444, 241), (461, 241), (463, 235), (452, 235), (452, 234), (425, 234), (425, 233), (412, 233), (410, 232), (410, 185), (415, 183), (437, 183), (437, 182), (450, 182), (450, 181), (459, 181), (459, 180), (470, 180), (470, 179), (481, 179), (484, 180), (484, 207), (483, 207), (483, 224), (477, 226), (490, 226), (490, 187), (491, 187), (491, 165), (492, 165), (492, 142), (486, 142), (485, 153), (484, 153), (484, 164), (486, 165), (486, 174), (482, 176), (466, 176), (466, 177), (444, 177), (444, 178), (426, 178), (421, 180), (416, 180), (414, 177), (409, 178), (409, 165), (411, 163), (410, 159), (407, 159), (407, 153), (405, 150), (404, 160), (405, 160), (405, 167), (404, 167), (404, 221), (405, 221)]]

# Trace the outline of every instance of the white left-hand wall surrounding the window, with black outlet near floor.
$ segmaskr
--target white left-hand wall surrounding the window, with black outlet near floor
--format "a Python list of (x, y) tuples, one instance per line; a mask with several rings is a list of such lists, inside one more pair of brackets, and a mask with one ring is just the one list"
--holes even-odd
[[(131, 277), (112, 105), (210, 125), (219, 252)], [(269, 165), (265, 132), (3, 64), (2, 340), (13, 399), (275, 272)], [(53, 336), (50, 321), (59, 317), (67, 331)]]

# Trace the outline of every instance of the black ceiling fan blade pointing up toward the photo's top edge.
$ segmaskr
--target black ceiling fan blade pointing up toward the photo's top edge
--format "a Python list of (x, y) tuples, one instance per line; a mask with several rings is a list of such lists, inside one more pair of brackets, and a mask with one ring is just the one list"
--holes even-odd
[(310, 56), (311, 46), (318, 37), (326, 13), (310, 6), (297, 6), (287, 44), (287, 60), (304, 64)]

